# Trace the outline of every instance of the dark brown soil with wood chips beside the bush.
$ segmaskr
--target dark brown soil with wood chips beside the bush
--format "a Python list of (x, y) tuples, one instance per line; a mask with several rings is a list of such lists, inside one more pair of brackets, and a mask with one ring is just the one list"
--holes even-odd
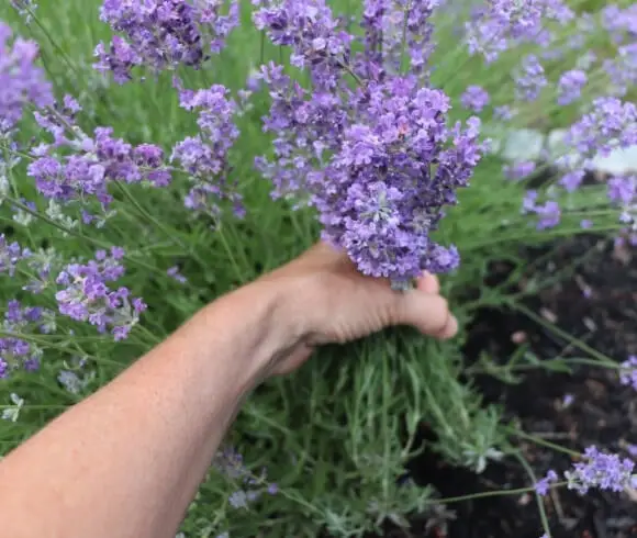
[[(637, 248), (633, 248), (637, 256)], [(569, 276), (526, 301), (530, 311), (557, 324), (590, 347), (624, 361), (637, 355), (637, 264), (632, 249), (595, 236), (579, 236), (552, 249), (533, 269), (535, 276), (550, 277), (585, 255)], [(538, 253), (529, 253), (538, 259)], [(501, 280), (510, 269), (495, 265)], [(522, 281), (522, 289), (527, 283)], [(481, 351), (492, 357), (510, 357), (524, 341), (539, 359), (586, 357), (566, 339), (517, 312), (483, 310), (470, 329), (465, 348), (468, 367)], [(590, 445), (629, 456), (637, 444), (637, 394), (622, 386), (616, 370), (579, 366), (573, 373), (534, 369), (519, 384), (506, 384), (491, 376), (476, 379), (488, 402), (505, 408), (506, 417), (517, 417), (523, 430), (547, 441), (583, 450)], [(572, 399), (569, 403), (565, 397)], [(522, 450), (538, 478), (549, 469), (565, 471), (568, 456), (535, 442), (521, 440)], [(469, 493), (525, 487), (527, 472), (516, 460), (492, 463), (480, 475), (450, 468), (434, 453), (414, 460), (411, 473), (417, 483), (432, 483), (443, 497)], [(637, 537), (637, 496), (591, 491), (585, 496), (566, 489), (544, 497), (552, 538)], [(385, 537), (432, 538), (538, 538), (544, 534), (535, 495), (492, 496), (450, 504), (455, 518), (413, 518), (412, 528), (388, 529)]]

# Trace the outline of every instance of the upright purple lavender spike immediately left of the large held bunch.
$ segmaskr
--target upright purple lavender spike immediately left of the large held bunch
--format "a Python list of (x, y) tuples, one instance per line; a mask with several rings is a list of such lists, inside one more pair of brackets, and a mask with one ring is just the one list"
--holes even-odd
[(170, 157), (192, 183), (186, 206), (212, 216), (219, 215), (223, 199), (233, 203), (237, 216), (244, 215), (236, 181), (228, 177), (227, 153), (239, 133), (234, 123), (237, 105), (227, 94), (228, 90), (220, 85), (208, 90), (180, 90), (181, 107), (199, 111), (200, 134), (176, 144)]

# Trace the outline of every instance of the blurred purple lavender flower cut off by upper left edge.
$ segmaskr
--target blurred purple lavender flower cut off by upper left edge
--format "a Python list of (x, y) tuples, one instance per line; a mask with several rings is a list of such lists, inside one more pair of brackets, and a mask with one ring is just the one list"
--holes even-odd
[(11, 29), (0, 22), (0, 134), (15, 126), (26, 103), (38, 108), (53, 104), (52, 86), (44, 71), (34, 65), (37, 45), (11, 36)]

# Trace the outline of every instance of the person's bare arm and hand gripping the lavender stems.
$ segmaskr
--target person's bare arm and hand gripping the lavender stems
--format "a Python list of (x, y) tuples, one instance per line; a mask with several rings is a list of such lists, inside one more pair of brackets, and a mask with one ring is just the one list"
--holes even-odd
[(393, 325), (450, 338), (437, 280), (409, 292), (318, 244), (197, 313), (0, 462), (2, 536), (174, 538), (243, 399), (314, 347)]

